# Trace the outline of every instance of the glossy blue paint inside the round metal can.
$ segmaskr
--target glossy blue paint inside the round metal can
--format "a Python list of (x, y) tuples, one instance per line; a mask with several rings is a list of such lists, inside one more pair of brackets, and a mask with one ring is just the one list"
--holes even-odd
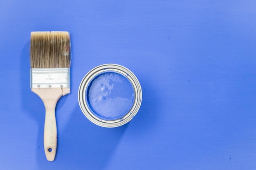
[(114, 71), (95, 76), (85, 93), (90, 111), (103, 120), (122, 119), (135, 101), (129, 79)]

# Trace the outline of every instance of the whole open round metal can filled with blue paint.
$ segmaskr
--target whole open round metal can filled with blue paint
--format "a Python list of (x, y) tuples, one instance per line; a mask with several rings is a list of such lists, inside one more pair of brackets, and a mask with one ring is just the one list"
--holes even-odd
[(138, 112), (142, 91), (137, 77), (124, 66), (103, 64), (85, 75), (78, 100), (84, 115), (99, 126), (128, 123)]

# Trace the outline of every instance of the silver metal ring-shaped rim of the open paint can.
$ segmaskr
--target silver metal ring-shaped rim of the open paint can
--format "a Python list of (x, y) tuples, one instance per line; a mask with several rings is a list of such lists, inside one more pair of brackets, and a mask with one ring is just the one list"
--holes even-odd
[[(135, 93), (135, 101), (130, 109), (130, 111), (124, 115), (121, 119), (117, 120), (103, 120), (100, 119), (99, 117), (96, 117), (89, 109), (86, 99), (85, 99), (85, 91), (91, 82), (92, 79), (94, 79), (95, 76), (104, 73), (104, 72), (116, 72), (127, 79), (129, 79), (130, 83), (133, 86), (133, 90)], [(82, 79), (80, 86), (79, 86), (79, 91), (78, 91), (78, 100), (79, 100), (79, 106), (85, 115), (92, 123), (97, 124), (102, 127), (106, 128), (114, 128), (118, 126), (122, 126), (126, 123), (128, 123), (139, 111), (139, 108), (141, 106), (142, 102), (142, 91), (141, 91), (141, 86), (139, 84), (139, 80), (137, 77), (130, 71), (128, 68), (121, 66), (119, 64), (103, 64), (100, 66), (97, 66), (90, 70)]]

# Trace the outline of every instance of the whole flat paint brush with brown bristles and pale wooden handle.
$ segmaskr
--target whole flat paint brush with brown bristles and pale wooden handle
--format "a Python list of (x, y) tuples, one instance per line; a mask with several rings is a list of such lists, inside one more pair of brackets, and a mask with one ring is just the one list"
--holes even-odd
[(31, 32), (30, 87), (45, 105), (44, 148), (53, 161), (57, 148), (55, 107), (70, 93), (70, 35), (66, 31)]

